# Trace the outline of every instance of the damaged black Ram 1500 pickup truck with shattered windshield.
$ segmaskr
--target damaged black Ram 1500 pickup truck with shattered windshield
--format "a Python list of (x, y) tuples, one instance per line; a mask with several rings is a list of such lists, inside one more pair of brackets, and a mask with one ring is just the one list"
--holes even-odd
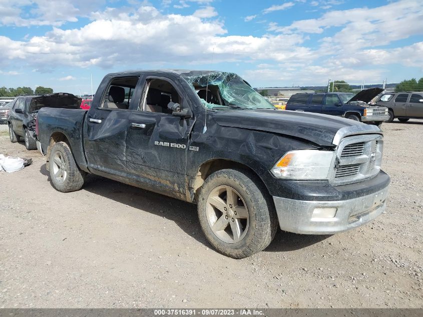
[(266, 248), (278, 225), (358, 227), (388, 195), (378, 127), (277, 111), (233, 73), (109, 74), (90, 110), (43, 108), (37, 131), (57, 190), (93, 173), (196, 203), (208, 241), (234, 258)]

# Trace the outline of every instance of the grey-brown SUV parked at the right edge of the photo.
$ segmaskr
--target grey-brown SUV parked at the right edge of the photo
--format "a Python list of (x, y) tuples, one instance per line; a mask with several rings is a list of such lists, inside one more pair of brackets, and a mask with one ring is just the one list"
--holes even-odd
[(423, 119), (423, 92), (385, 93), (379, 97), (376, 105), (388, 108), (389, 118), (386, 122), (392, 122), (395, 118), (400, 122), (410, 118)]

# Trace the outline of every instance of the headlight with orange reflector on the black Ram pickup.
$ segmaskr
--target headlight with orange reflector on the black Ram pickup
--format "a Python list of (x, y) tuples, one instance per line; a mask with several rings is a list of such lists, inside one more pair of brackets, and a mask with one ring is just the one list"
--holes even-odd
[(319, 150), (290, 151), (270, 171), (277, 178), (327, 179), (334, 154)]

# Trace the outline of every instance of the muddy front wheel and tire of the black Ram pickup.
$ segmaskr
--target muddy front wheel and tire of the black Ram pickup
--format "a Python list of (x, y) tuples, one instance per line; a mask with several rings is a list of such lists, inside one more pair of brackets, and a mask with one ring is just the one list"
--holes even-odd
[(224, 169), (211, 174), (201, 188), (197, 207), (207, 240), (233, 258), (263, 250), (277, 231), (271, 197), (248, 171)]

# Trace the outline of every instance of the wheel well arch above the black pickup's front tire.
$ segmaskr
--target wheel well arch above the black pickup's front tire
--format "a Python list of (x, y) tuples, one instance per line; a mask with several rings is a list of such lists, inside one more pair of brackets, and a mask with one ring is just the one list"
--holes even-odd
[(261, 182), (263, 187), (267, 189), (266, 185), (263, 183), (260, 176), (258, 176), (258, 174), (253, 169), (249, 168), (248, 166), (235, 162), (235, 161), (230, 161), (225, 159), (214, 159), (214, 160), (210, 160), (203, 163), (197, 171), (197, 175), (195, 176), (195, 179), (192, 183), (193, 185), (191, 186), (194, 190), (194, 201), (197, 201), (200, 188), (201, 186), (203, 186), (206, 178), (209, 177), (210, 174), (216, 171), (227, 169), (227, 168), (237, 168), (237, 169), (249, 171), (256, 177), (256, 180)]

